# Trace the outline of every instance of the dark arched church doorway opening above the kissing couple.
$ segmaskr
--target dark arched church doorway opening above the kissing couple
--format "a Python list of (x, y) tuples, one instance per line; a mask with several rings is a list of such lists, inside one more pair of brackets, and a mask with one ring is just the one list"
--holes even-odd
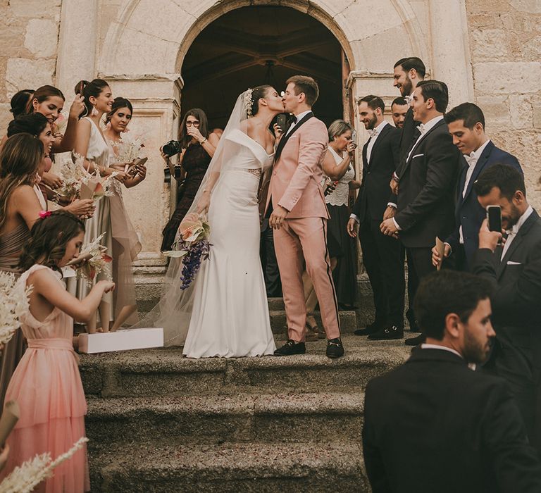
[(205, 27), (189, 47), (181, 113), (201, 108), (210, 128), (223, 128), (248, 87), (270, 84), (281, 92), (288, 77), (311, 75), (320, 87), (314, 113), (329, 125), (344, 117), (344, 64), (340, 43), (310, 15), (287, 7), (238, 8)]

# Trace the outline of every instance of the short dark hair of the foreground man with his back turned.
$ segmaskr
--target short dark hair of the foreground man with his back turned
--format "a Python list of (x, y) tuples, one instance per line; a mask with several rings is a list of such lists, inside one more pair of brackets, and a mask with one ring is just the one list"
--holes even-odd
[(467, 323), (479, 301), (490, 298), (490, 294), (492, 285), (484, 277), (440, 270), (423, 278), (413, 310), (423, 334), (441, 341), (449, 313), (456, 313), (463, 323)]

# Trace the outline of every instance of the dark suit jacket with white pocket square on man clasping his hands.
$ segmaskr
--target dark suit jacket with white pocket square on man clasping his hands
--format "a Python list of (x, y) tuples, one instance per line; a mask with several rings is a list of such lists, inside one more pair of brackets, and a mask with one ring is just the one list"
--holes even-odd
[(454, 193), (461, 163), (447, 123), (440, 120), (413, 144), (398, 189), (394, 220), (407, 247), (432, 247), (454, 229)]

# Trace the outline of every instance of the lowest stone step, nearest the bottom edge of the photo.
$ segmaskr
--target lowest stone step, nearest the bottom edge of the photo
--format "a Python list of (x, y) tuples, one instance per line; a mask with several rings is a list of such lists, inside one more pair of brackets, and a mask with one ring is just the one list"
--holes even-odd
[(89, 459), (94, 493), (370, 491), (359, 442), (141, 444)]

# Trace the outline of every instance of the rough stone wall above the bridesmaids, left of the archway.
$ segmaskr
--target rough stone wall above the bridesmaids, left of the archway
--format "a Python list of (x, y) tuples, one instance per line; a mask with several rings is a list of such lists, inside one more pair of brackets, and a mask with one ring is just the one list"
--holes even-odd
[(9, 100), (20, 89), (53, 84), (61, 0), (0, 1), (0, 133), (11, 120)]

